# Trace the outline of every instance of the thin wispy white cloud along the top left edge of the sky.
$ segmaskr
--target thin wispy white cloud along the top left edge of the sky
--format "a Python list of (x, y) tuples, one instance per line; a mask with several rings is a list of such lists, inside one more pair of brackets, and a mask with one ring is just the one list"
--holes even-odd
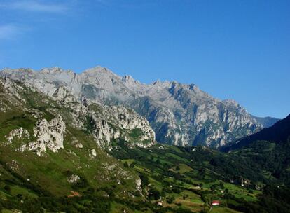
[(31, 11), (31, 12), (46, 12), (46, 13), (62, 13), (67, 11), (68, 6), (65, 4), (47, 4), (43, 1), (6, 1), (6, 3), (0, 4), (2, 8), (8, 8), (19, 11)]

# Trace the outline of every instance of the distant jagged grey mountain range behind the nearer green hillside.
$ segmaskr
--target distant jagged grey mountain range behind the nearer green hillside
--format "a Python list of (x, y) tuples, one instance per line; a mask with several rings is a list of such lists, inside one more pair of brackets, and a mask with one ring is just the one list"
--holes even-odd
[(160, 143), (216, 148), (251, 135), (265, 125), (237, 102), (216, 99), (194, 84), (144, 84), (102, 67), (81, 74), (57, 67), (41, 71), (4, 69), (0, 76), (22, 81), (48, 96), (61, 86), (76, 99), (134, 109), (149, 121)]

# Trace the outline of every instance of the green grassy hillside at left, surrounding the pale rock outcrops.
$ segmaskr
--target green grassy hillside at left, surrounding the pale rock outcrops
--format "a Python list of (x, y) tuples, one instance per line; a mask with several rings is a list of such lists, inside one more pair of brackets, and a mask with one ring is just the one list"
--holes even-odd
[[(113, 188), (113, 192), (119, 196), (127, 197), (124, 191), (135, 191), (134, 179), (137, 175), (126, 171), (118, 160), (100, 149), (87, 132), (72, 127), (69, 109), (28, 88), (21, 92), (26, 101), (15, 97), (15, 105), (6, 102), (5, 94), (0, 92), (1, 104), (5, 102), (9, 107), (5, 113), (0, 112), (0, 198), (15, 199), (17, 195), (25, 198), (63, 197), (71, 194), (71, 191), (82, 195), (88, 188), (99, 188), (99, 195), (102, 195), (107, 193), (102, 190), (106, 187)], [(50, 111), (62, 115), (67, 125), (65, 149), (60, 149), (58, 153), (48, 150), (41, 157), (32, 151), (16, 151), (22, 144), (34, 139), (33, 128), (37, 119), (32, 111), (48, 121), (54, 118)], [(12, 144), (7, 144), (5, 136), (20, 127), (27, 129), (32, 137), (15, 138)], [(81, 142), (83, 148), (76, 148), (71, 143), (73, 139)], [(95, 158), (90, 154), (92, 149), (97, 152)], [(107, 170), (106, 166), (110, 165), (116, 166), (113, 170)], [(67, 179), (71, 174), (77, 174), (81, 180), (69, 184)], [(120, 184), (117, 184), (116, 179), (120, 180)]]

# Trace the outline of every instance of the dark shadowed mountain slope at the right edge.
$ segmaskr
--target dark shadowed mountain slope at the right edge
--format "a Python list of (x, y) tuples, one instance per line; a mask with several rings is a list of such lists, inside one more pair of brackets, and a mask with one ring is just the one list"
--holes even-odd
[(290, 185), (290, 114), (272, 127), (265, 128), (235, 144), (223, 147), (222, 151), (249, 159), (251, 165), (263, 168), (272, 179)]

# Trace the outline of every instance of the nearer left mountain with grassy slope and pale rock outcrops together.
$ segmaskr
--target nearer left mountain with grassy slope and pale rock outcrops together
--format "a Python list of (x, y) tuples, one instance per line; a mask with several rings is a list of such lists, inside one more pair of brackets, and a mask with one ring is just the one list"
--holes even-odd
[(146, 118), (125, 107), (77, 100), (62, 87), (51, 94), (0, 78), (1, 181), (20, 176), (52, 195), (69, 195), (75, 184), (122, 182), (118, 191), (138, 191), (139, 177), (104, 150), (119, 139), (131, 148), (155, 144)]

